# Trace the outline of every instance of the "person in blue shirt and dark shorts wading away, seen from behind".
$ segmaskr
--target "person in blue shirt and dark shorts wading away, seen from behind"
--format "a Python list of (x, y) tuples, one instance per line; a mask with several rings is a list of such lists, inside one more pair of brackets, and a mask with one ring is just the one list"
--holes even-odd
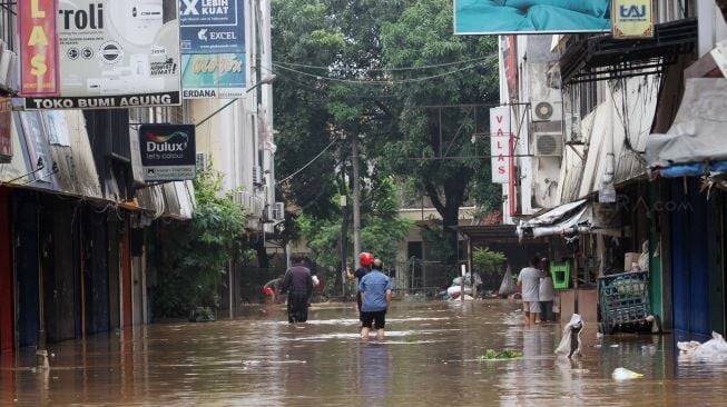
[(376, 329), (376, 339), (384, 338), (386, 309), (391, 304), (393, 286), (389, 276), (381, 272), (382, 267), (381, 259), (374, 259), (371, 271), (358, 284), (362, 339), (369, 339), (372, 327)]

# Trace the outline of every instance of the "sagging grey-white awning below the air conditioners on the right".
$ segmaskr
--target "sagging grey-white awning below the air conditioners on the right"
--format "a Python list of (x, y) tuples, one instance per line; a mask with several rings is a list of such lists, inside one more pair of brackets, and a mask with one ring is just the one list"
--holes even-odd
[(617, 207), (581, 199), (520, 221), (517, 228), (520, 240), (576, 232), (620, 236)]

